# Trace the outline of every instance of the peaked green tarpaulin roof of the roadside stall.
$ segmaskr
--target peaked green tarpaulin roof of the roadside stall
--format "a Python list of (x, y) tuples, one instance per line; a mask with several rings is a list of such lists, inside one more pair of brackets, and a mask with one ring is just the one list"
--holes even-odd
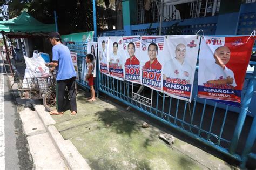
[(6, 32), (6, 35), (52, 32), (55, 31), (55, 24), (43, 24), (24, 11), (17, 17), (7, 21), (0, 21), (0, 31)]

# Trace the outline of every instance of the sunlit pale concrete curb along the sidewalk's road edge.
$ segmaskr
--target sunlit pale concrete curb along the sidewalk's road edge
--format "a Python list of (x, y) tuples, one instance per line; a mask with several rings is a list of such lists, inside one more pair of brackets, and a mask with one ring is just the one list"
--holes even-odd
[(51, 115), (45, 111), (44, 106), (35, 105), (33, 102), (32, 105), (35, 108), (38, 117), (42, 120), (53, 144), (56, 146), (59, 154), (64, 159), (69, 169), (91, 169), (72, 142), (70, 140), (64, 140), (57, 128), (53, 125), (56, 123), (55, 120), (53, 120)]

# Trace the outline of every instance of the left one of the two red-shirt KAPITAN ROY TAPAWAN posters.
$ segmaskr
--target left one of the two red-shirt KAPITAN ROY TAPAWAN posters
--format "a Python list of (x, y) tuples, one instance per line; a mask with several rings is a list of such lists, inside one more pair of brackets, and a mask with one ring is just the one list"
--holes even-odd
[(125, 80), (132, 83), (140, 83), (140, 36), (123, 37), (122, 46), (125, 56)]

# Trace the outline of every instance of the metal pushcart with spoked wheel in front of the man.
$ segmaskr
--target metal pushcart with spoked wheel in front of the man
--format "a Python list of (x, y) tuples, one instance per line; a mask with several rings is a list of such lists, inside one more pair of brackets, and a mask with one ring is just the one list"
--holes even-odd
[(46, 110), (56, 109), (56, 79), (50, 77), (17, 78), (21, 99), (43, 99)]

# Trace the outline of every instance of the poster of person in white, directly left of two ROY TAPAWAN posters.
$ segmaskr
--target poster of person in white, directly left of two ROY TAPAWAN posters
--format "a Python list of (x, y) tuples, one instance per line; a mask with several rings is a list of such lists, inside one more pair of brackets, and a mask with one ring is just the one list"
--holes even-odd
[(124, 60), (122, 37), (109, 37), (107, 66), (111, 77), (124, 80)]

